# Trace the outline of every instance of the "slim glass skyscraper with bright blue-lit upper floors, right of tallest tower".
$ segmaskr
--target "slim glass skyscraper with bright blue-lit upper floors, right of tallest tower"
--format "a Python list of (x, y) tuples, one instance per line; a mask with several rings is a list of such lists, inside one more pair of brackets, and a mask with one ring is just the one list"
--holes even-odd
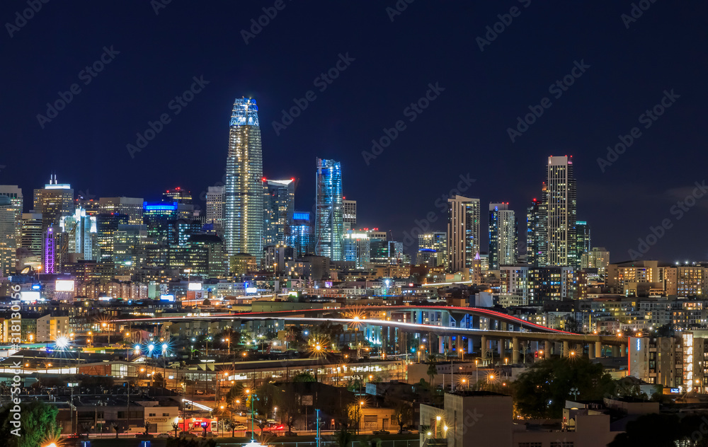
[(314, 236), (316, 255), (343, 260), (344, 207), (338, 161), (317, 158)]

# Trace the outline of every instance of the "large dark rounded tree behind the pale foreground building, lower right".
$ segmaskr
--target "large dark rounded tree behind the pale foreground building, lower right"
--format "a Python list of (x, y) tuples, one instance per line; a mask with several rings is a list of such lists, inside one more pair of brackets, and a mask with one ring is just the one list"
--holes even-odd
[(521, 417), (559, 418), (565, 401), (577, 388), (578, 399), (600, 400), (610, 395), (614, 384), (603, 366), (584, 357), (555, 357), (535, 363), (512, 384)]

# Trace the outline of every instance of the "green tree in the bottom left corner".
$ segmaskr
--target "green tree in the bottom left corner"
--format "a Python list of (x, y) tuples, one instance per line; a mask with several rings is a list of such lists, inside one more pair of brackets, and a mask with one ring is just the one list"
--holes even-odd
[(6, 446), (36, 447), (44, 445), (48, 440), (59, 439), (61, 426), (57, 423), (57, 407), (42, 401), (21, 404), (20, 427), (11, 423), (16, 421), (13, 415), (17, 412), (10, 411), (13, 407), (8, 405), (0, 412), (0, 436)]

